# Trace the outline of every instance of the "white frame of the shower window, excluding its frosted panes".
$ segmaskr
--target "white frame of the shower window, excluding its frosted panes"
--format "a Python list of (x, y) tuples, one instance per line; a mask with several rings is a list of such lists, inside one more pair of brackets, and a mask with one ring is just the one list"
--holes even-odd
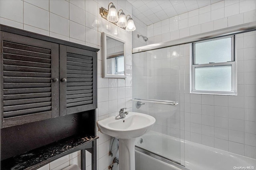
[[(195, 58), (195, 44), (196, 43), (202, 43), (206, 41), (212, 41), (217, 39), (224, 39), (231, 37), (231, 61), (226, 61), (223, 63), (207, 63), (207, 64), (195, 64), (196, 58)], [(190, 93), (193, 94), (218, 94), (218, 95), (230, 95), (230, 96), (236, 96), (237, 95), (237, 73), (236, 73), (236, 55), (235, 55), (235, 35), (225, 36), (225, 37), (218, 37), (218, 38), (212, 38), (207, 39), (203, 41), (196, 41), (194, 43), (191, 43), (191, 64), (190, 64)], [(195, 90), (195, 68), (196, 67), (212, 67), (212, 66), (225, 66), (225, 65), (231, 65), (231, 91), (215, 91), (215, 90)]]

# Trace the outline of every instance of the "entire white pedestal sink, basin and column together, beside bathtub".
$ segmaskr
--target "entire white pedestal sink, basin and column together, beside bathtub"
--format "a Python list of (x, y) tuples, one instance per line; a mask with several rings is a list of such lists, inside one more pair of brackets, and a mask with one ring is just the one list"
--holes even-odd
[(135, 139), (150, 131), (156, 119), (130, 112), (122, 119), (115, 116), (97, 122), (100, 132), (119, 139), (119, 169), (135, 170)]

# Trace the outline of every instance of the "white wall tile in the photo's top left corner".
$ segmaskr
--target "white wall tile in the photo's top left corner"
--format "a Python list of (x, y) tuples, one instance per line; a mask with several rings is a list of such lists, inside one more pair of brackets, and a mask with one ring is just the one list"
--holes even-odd
[(23, 23), (23, 2), (21, 0), (1, 0), (0, 17)]

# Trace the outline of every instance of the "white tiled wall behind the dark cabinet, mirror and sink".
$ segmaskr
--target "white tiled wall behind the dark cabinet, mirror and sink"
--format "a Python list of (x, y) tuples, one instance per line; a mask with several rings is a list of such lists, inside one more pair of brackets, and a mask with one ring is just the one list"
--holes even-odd
[[(108, 9), (113, 2), (117, 10), (124, 10), (132, 16), (132, 5), (125, 0), (0, 0), (0, 23), (40, 33), (58, 39), (64, 39), (82, 45), (100, 49), (98, 52), (98, 109), (97, 119), (118, 114), (118, 108), (132, 107), (132, 33), (117, 27), (103, 19), (99, 8)], [(137, 25), (136, 25), (137, 26)], [(146, 27), (145, 27), (146, 29)], [(106, 32), (126, 41), (127, 78), (102, 78), (102, 42), (101, 33)], [(97, 129), (98, 131), (98, 129)], [(114, 156), (108, 156), (110, 137), (97, 132), (98, 169), (107, 170), (118, 154), (114, 143)], [(90, 158), (90, 153), (87, 158)], [(44, 166), (44, 170), (62, 169), (69, 164), (80, 166), (80, 152), (70, 154)], [(75, 155), (75, 156), (74, 156)], [(90, 160), (86, 162), (90, 169)], [(113, 169), (118, 169), (115, 165)]]

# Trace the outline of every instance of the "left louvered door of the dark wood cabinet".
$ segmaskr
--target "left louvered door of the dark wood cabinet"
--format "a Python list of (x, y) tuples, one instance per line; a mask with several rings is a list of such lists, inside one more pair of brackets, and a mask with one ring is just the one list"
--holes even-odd
[(1, 31), (1, 127), (59, 115), (59, 45)]

